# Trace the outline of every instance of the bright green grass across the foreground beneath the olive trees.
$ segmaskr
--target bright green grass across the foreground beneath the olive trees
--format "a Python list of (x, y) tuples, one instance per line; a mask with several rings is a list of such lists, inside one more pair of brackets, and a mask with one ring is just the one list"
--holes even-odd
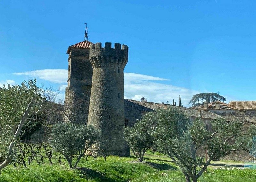
[[(151, 154), (152, 158), (164, 157)], [(64, 162), (64, 161), (63, 161)], [(198, 181), (222, 182), (243, 181), (251, 182), (256, 179), (256, 170), (208, 170)], [(81, 159), (78, 169), (69, 169), (67, 162), (58, 164), (53, 160), (49, 164), (39, 166), (32, 162), (30, 166), (14, 168), (12, 165), (4, 168), (0, 182), (16, 181), (138, 181), (138, 182), (183, 182), (182, 172), (173, 163), (161, 160), (145, 159), (139, 163), (133, 157), (109, 156), (107, 161), (88, 157), (88, 161)]]

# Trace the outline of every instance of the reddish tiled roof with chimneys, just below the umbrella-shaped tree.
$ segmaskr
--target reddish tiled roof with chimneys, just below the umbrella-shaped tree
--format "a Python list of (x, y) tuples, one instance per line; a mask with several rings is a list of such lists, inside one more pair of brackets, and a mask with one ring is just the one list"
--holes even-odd
[[(216, 103), (220, 103), (220, 107), (216, 107)], [(224, 102), (220, 102), (220, 101), (215, 101), (215, 102), (210, 102), (208, 103), (208, 107), (205, 108), (204, 104), (196, 106), (196, 107), (191, 107), (192, 109), (198, 109), (198, 110), (240, 110), (240, 111), (244, 111), (241, 109), (238, 109), (232, 105), (226, 104)]]

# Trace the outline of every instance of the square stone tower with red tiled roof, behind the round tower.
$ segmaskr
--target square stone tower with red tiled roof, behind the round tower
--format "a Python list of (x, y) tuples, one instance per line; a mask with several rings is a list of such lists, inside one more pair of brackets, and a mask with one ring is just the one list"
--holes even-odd
[(91, 44), (83, 41), (68, 47), (68, 87), (64, 104), (67, 115), (64, 121), (87, 122), (93, 71), (89, 60)]

